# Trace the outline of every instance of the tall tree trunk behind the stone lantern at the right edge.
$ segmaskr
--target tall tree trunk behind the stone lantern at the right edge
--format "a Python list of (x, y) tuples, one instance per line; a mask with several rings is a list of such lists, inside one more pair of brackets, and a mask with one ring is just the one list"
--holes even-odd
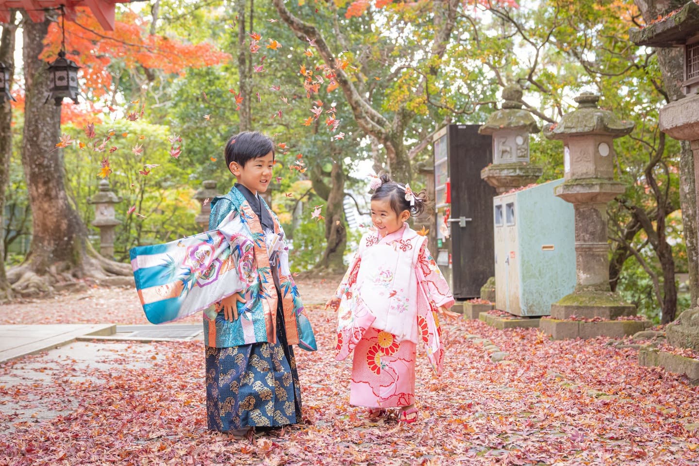
[[(664, 15), (686, 3), (686, 0), (635, 0), (636, 5), (647, 24), (658, 15)], [(665, 89), (670, 100), (682, 99), (684, 94), (680, 84), (684, 80), (684, 56), (682, 48), (658, 48), (658, 64)], [(689, 289), (692, 305), (699, 299), (699, 238), (697, 224), (697, 198), (694, 178), (694, 159), (689, 143), (682, 142), (682, 154), (679, 160), (679, 198), (682, 205), (682, 225), (684, 227), (684, 244), (689, 261)]]

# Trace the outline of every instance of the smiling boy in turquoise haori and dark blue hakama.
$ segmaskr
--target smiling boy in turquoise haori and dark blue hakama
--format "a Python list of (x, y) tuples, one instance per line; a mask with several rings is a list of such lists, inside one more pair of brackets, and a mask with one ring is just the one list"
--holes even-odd
[(131, 249), (136, 288), (151, 322), (215, 303), (203, 316), (208, 428), (236, 437), (301, 421), (290, 345), (316, 349), (284, 231), (259, 196), (272, 179), (274, 155), (272, 140), (259, 132), (233, 136), (225, 156), (237, 182), (211, 201), (210, 231)]

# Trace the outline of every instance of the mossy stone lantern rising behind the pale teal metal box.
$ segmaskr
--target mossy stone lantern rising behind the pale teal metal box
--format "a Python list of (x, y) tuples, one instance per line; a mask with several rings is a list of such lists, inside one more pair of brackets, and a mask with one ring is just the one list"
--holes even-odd
[(540, 166), (529, 164), (529, 135), (540, 131), (530, 112), (522, 110), (519, 86), (503, 89), (503, 108), (491, 113), (478, 129), (493, 136), (493, 163), (481, 170), (481, 178), (503, 194), (538, 180)]

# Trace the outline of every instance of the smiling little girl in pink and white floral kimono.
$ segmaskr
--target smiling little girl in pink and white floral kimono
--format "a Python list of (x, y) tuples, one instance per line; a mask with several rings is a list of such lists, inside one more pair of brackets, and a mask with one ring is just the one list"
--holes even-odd
[(398, 408), (398, 421), (417, 421), (416, 345), (425, 345), (437, 374), (444, 349), (437, 312), (454, 304), (449, 285), (426, 247), (426, 238), (405, 221), (427, 207), (424, 191), (387, 175), (372, 182), (375, 231), (359, 250), (326, 307), (338, 311), (338, 361), (354, 349), (349, 404), (366, 407), (370, 418)]

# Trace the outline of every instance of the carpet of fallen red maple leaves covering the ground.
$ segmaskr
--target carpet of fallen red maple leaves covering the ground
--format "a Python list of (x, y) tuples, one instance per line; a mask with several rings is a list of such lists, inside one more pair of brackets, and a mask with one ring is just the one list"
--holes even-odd
[[(118, 302), (109, 291), (99, 293), (98, 299)], [(123, 317), (131, 293), (118, 293)], [(74, 316), (89, 315), (78, 307), (91, 300), (65, 301), (60, 305), (72, 307)], [(93, 305), (103, 318), (96, 321), (115, 315), (108, 307)], [(50, 319), (51, 307), (35, 312), (40, 308)], [(333, 314), (315, 305), (310, 315), (319, 351), (296, 351), (304, 423), (282, 437), (251, 443), (206, 430), (201, 342), (143, 344), (147, 351), (126, 342), (99, 369), (76, 371), (69, 359), (47, 361), (41, 354), (0, 365), (0, 378), (18, 364), (58, 367), (50, 397), (67, 413), (38, 422), (0, 418), (0, 427), (13, 430), (0, 434), (0, 464), (699, 464), (699, 430), (691, 430), (699, 388), (639, 367), (635, 349), (604, 338), (554, 342), (536, 329), (449, 320), (442, 322), (448, 347), (442, 377), (418, 356), (419, 421), (372, 423), (347, 405), (351, 362), (334, 361)], [(507, 351), (507, 360), (491, 363), (488, 342), (473, 335)], [(31, 380), (0, 382), (0, 402), (17, 410), (48, 395)]]

